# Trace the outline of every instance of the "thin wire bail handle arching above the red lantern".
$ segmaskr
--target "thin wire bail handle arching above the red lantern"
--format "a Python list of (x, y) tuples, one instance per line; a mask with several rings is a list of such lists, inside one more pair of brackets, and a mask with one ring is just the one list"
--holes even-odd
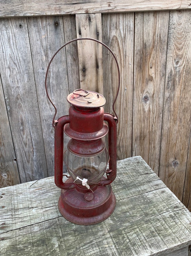
[(112, 105), (112, 108), (113, 108), (113, 112), (115, 113), (116, 117), (114, 117), (116, 119), (116, 123), (118, 123), (118, 116), (117, 116), (117, 113), (115, 111), (115, 108), (114, 108), (114, 105), (115, 105), (115, 102), (117, 100), (117, 96), (119, 94), (119, 88), (120, 88), (120, 70), (119, 70), (119, 64), (118, 64), (118, 61), (117, 61), (117, 58), (115, 56), (115, 54), (113, 53), (113, 51), (104, 43), (102, 43), (101, 41), (97, 40), (97, 39), (94, 39), (94, 38), (88, 38), (88, 37), (82, 37), (82, 38), (75, 38), (73, 40), (70, 40), (68, 41), (67, 43), (65, 43), (64, 45), (62, 45), (55, 53), (54, 55), (52, 56), (49, 64), (48, 64), (48, 67), (47, 67), (47, 71), (46, 71), (46, 75), (45, 75), (45, 89), (46, 89), (46, 93), (47, 93), (47, 97), (49, 99), (49, 101), (51, 102), (51, 104), (53, 105), (54, 109), (55, 109), (55, 114), (54, 114), (54, 117), (53, 117), (53, 121), (52, 121), (52, 126), (55, 128), (55, 124), (56, 124), (56, 120), (55, 120), (55, 117), (56, 117), (56, 113), (57, 113), (57, 108), (55, 106), (55, 104), (52, 102), (49, 94), (48, 94), (48, 90), (47, 90), (47, 76), (48, 76), (48, 71), (49, 71), (49, 68), (50, 68), (50, 65), (51, 65), (51, 62), (52, 60), (54, 59), (54, 57), (56, 56), (56, 54), (62, 49), (64, 48), (66, 45), (72, 43), (72, 42), (75, 42), (75, 41), (78, 41), (78, 40), (91, 40), (91, 41), (95, 41), (97, 43), (100, 43), (102, 44), (104, 47), (106, 47), (110, 52), (111, 54), (113, 55), (114, 59), (115, 59), (115, 62), (116, 62), (116, 65), (117, 65), (117, 70), (118, 70), (118, 89), (117, 89), (117, 93), (116, 93), (116, 96), (115, 96), (115, 99), (113, 101), (113, 105)]

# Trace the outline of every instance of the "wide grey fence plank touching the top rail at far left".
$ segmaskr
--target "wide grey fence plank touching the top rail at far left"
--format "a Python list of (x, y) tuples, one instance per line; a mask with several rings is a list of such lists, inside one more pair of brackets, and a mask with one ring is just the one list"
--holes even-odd
[(21, 182), (47, 176), (25, 18), (0, 20), (1, 79)]

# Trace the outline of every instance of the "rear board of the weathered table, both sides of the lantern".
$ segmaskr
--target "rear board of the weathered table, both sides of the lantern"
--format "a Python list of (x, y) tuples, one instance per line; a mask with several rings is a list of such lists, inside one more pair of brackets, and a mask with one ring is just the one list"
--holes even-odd
[[(118, 161), (117, 177), (112, 183), (117, 200), (123, 199), (127, 191), (128, 197), (132, 197), (166, 187), (150, 167), (143, 163), (145, 162), (139, 161), (138, 157)], [(125, 171), (122, 173), (123, 169)], [(120, 178), (120, 173), (123, 179)], [(46, 198), (47, 193), (51, 197)], [(0, 233), (61, 216), (57, 207), (60, 188), (55, 185), (54, 177), (2, 188), (1, 194), (0, 206), (5, 206), (0, 208), (1, 222), (5, 225), (0, 228)], [(47, 200), (50, 206), (47, 206)]]

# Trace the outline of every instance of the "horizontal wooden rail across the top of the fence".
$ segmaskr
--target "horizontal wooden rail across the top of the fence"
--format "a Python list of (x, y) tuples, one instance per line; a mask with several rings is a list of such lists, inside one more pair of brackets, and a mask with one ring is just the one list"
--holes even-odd
[(106, 12), (133, 12), (133, 11), (156, 11), (171, 9), (190, 8), (188, 0), (66, 0), (55, 2), (52, 0), (33, 2), (29, 0), (9, 0), (0, 2), (0, 17), (11, 16), (43, 16), (43, 15), (63, 15), (79, 13), (106, 13)]

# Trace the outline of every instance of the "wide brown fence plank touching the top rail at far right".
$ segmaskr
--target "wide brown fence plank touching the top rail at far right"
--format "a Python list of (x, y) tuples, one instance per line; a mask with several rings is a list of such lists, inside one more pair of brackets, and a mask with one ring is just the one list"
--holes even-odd
[(160, 178), (180, 200), (183, 198), (191, 126), (190, 14), (190, 10), (170, 13), (159, 172)]

